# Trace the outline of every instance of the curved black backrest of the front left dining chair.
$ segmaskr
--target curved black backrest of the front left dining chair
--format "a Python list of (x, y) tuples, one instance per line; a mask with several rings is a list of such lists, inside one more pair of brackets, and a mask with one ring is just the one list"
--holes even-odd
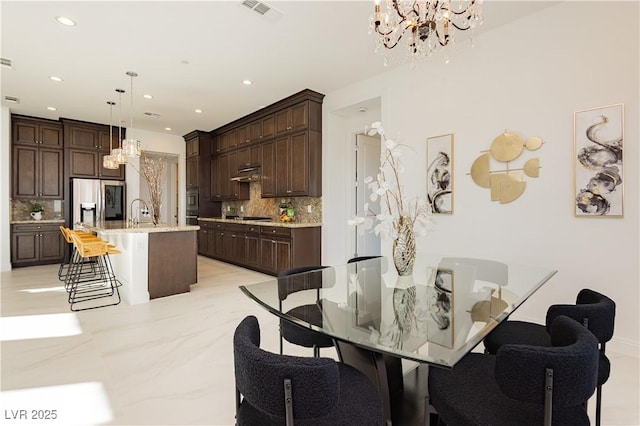
[(260, 349), (260, 326), (246, 317), (233, 337), (236, 388), (257, 409), (285, 417), (285, 379), (291, 381), (296, 419), (321, 418), (340, 398), (340, 374), (330, 358), (279, 355)]

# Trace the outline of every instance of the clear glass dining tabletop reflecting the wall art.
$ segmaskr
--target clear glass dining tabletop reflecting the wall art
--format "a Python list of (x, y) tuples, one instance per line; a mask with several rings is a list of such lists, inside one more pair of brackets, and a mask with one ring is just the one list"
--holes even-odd
[[(241, 286), (269, 312), (361, 348), (453, 367), (555, 270), (418, 256), (410, 276), (385, 257)], [(304, 309), (294, 309), (305, 306)], [(320, 315), (307, 315), (310, 310)]]

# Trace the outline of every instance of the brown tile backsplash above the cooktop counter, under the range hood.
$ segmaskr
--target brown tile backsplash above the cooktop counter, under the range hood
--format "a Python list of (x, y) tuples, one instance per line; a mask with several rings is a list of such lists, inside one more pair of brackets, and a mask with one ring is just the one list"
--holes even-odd
[[(223, 215), (270, 217), (277, 221), (282, 200), (282, 198), (262, 198), (260, 182), (251, 182), (249, 184), (249, 200), (225, 201), (222, 203), (222, 212)], [(322, 222), (322, 198), (292, 197), (284, 200), (291, 202), (295, 211), (295, 222)], [(308, 212), (309, 206), (311, 206), (311, 213)]]

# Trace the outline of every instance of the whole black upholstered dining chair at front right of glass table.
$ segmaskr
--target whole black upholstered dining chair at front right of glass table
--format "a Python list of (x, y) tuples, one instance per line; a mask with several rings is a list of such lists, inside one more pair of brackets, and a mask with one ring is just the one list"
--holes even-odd
[(439, 425), (586, 426), (584, 401), (596, 387), (598, 341), (559, 316), (551, 346), (503, 345), (471, 353), (452, 370), (429, 369), (429, 396)]

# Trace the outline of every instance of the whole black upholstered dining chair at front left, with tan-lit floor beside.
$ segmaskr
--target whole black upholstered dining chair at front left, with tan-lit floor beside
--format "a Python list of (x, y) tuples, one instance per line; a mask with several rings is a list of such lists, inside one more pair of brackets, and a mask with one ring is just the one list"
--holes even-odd
[(236, 424), (382, 425), (375, 385), (330, 358), (278, 355), (260, 349), (260, 326), (246, 317), (233, 336)]

